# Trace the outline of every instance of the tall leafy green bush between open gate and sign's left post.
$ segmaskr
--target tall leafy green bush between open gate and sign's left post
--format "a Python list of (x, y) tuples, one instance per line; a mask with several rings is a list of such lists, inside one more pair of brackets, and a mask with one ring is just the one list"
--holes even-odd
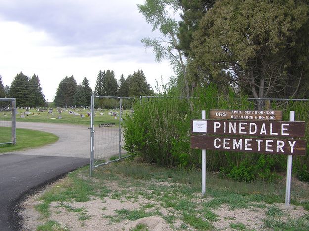
[[(134, 105), (134, 114), (125, 118), (125, 148), (144, 160), (167, 166), (189, 161), (190, 112), (188, 103), (178, 98), (143, 99)], [(178, 145), (177, 145), (177, 144)], [(175, 148), (183, 146), (184, 152)]]

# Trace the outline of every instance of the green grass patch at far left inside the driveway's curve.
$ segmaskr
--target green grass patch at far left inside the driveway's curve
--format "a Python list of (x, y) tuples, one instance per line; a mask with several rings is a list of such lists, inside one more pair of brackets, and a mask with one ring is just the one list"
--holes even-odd
[[(7, 141), (7, 137), (11, 136), (10, 128), (0, 127), (0, 140)], [(51, 133), (46, 133), (30, 129), (16, 129), (16, 144), (2, 144), (0, 145), (0, 153), (18, 151), (27, 148), (34, 148), (44, 146), (46, 144), (54, 143), (59, 138)], [(8, 140), (9, 141), (9, 140)]]

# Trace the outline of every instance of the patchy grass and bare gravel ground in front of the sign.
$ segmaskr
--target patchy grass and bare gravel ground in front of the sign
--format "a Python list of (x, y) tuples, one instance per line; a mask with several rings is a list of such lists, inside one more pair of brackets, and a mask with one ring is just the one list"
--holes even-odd
[[(130, 222), (155, 216), (171, 230), (309, 230), (309, 193), (304, 186), (292, 182), (292, 206), (287, 210), (281, 181), (244, 183), (206, 175), (202, 196), (200, 170), (163, 168), (136, 159), (97, 168), (92, 178), (88, 167), (81, 168), (34, 202), (41, 214), (37, 229), (104, 224), (106, 230), (122, 230)], [(139, 226), (131, 230), (148, 229), (147, 224)]]

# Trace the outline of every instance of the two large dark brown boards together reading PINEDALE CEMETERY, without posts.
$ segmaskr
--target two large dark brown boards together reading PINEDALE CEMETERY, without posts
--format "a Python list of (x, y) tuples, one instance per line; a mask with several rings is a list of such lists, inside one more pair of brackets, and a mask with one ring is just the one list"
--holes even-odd
[(191, 120), (191, 125), (191, 148), (306, 155), (305, 140), (294, 139), (305, 136), (305, 122)]

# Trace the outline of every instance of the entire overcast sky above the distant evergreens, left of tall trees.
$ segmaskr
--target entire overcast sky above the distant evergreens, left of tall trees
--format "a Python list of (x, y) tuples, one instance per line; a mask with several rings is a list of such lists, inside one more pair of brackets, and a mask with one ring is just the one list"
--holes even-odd
[(173, 75), (167, 61), (156, 63), (140, 42), (156, 37), (136, 4), (144, 0), (0, 0), (0, 75), (11, 85), (21, 71), (39, 76), (52, 101), (59, 82), (86, 77), (94, 90), (99, 70), (118, 80), (143, 70), (154, 88)]

